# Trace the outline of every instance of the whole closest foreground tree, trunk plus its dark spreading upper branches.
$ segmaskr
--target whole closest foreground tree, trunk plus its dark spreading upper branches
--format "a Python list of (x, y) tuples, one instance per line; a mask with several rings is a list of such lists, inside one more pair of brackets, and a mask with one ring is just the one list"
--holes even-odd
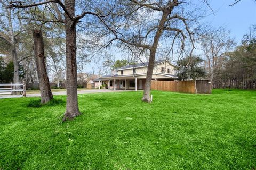
[[(30, 2), (30, 1), (29, 1)], [(82, 13), (80, 15), (75, 15), (75, 0), (65, 0), (64, 3), (60, 0), (48, 0), (33, 4), (24, 4), (20, 1), (10, 2), (9, 8), (31, 8), (38, 7), (41, 5), (47, 5), (50, 3), (55, 3), (55, 11), (57, 12), (57, 17), (54, 19), (41, 19), (44, 22), (58, 22), (64, 23), (65, 25), (65, 37), (66, 37), (66, 89), (67, 89), (67, 103), (66, 103), (66, 112), (63, 117), (63, 121), (67, 119), (72, 119), (80, 114), (78, 109), (78, 100), (77, 100), (77, 63), (76, 63), (76, 25), (84, 18), (86, 15), (92, 15), (97, 18), (105, 17), (109, 15), (109, 11), (106, 11), (107, 14), (99, 14), (93, 11), (85, 11), (88, 6), (83, 7)], [(89, 3), (87, 4), (89, 5)], [(61, 11), (59, 10), (61, 8)], [(97, 11), (97, 10), (95, 10)], [(62, 19), (61, 12), (65, 16), (65, 19)], [(102, 11), (100, 11), (102, 12)], [(55, 16), (55, 15), (54, 15)]]

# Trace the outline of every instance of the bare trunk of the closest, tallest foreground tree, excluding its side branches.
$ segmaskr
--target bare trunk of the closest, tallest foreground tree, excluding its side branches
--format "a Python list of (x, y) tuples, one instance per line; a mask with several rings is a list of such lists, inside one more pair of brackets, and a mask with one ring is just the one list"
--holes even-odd
[[(72, 16), (75, 16), (75, 0), (66, 0), (65, 6)], [(77, 65), (76, 65), (76, 24), (65, 14), (66, 31), (66, 112), (62, 121), (73, 119), (80, 114), (77, 101)]]

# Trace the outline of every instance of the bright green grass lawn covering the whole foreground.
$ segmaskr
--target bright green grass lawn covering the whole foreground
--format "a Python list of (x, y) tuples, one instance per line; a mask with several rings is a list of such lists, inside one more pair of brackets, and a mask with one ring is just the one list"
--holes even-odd
[(79, 95), (83, 114), (65, 123), (65, 96), (1, 99), (0, 169), (256, 168), (256, 91), (141, 97)]

